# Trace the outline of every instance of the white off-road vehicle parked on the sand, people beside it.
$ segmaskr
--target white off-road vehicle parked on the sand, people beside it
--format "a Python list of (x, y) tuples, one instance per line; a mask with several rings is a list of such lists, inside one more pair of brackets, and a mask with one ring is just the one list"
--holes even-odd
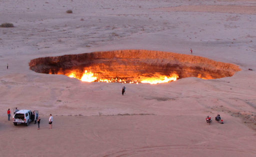
[(17, 124), (25, 124), (29, 125), (30, 122), (35, 120), (35, 116), (32, 114), (30, 110), (19, 110), (13, 116), (13, 124), (16, 126)]

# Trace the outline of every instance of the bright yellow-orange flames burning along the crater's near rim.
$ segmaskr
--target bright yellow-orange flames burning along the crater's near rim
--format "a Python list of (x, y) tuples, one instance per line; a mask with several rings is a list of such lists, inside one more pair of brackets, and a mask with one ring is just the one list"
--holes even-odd
[[(62, 72), (58, 74), (64, 74)], [(153, 74), (151, 77), (146, 76), (139, 76), (137, 78), (134, 78), (134, 80), (129, 79), (121, 79), (121, 78), (102, 78), (101, 76), (97, 76), (97, 74), (92, 73), (91, 71), (88, 72), (87, 70), (84, 71), (83, 74), (80, 74), (78, 71), (71, 71), (69, 73), (65, 73), (64, 75), (70, 77), (70, 78), (76, 78), (78, 80), (81, 80), (83, 82), (119, 82), (119, 83), (149, 83), (149, 84), (157, 84), (157, 83), (168, 83), (171, 81), (176, 81), (178, 78), (178, 75), (173, 73), (170, 76), (164, 76), (160, 75), (159, 73)]]

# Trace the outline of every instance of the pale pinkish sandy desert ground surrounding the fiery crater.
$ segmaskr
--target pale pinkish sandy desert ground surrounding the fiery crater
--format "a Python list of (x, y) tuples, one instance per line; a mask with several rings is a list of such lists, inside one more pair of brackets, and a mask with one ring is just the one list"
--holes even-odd
[[(0, 24), (14, 24), (0, 28), (0, 156), (255, 157), (255, 0), (0, 0), (0, 10)], [(121, 96), (123, 84), (28, 66), (45, 56), (190, 48), (241, 71), (125, 84)], [(7, 121), (15, 107), (39, 110), (41, 129)], [(216, 114), (224, 124), (205, 123)]]

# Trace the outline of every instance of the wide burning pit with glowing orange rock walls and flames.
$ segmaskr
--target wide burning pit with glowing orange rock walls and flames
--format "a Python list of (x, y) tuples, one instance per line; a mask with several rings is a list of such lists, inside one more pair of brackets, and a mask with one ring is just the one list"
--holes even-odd
[(61, 74), (86, 82), (164, 83), (186, 77), (230, 77), (237, 65), (211, 59), (151, 50), (116, 50), (54, 57), (29, 62), (31, 70)]

